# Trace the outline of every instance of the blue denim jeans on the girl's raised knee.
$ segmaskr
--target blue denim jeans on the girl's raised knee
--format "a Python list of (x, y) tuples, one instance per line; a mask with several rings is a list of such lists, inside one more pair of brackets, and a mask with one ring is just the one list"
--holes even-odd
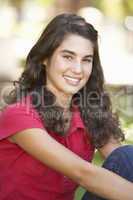
[[(113, 171), (128, 181), (133, 182), (133, 145), (125, 145), (115, 149), (105, 160), (102, 167)], [(86, 192), (82, 200), (106, 199), (98, 197), (97, 195), (94, 195), (90, 192)]]

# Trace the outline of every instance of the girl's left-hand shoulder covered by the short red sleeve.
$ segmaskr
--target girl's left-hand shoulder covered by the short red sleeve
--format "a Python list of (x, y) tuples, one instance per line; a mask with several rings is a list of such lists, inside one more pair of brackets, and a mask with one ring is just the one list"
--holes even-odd
[(28, 128), (43, 128), (40, 116), (30, 99), (8, 105), (0, 113), (0, 139)]

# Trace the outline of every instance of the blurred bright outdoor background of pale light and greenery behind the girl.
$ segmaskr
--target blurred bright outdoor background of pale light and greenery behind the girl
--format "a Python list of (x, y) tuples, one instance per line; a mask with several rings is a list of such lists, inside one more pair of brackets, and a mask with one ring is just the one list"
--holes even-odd
[(44, 27), (62, 12), (83, 16), (99, 31), (106, 87), (126, 142), (133, 144), (133, 0), (0, 0), (0, 97), (5, 81), (20, 77)]

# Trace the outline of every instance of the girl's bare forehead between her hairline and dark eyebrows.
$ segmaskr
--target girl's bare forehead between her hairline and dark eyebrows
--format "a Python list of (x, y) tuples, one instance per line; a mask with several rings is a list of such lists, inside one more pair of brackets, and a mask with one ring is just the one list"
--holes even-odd
[(58, 47), (58, 51), (70, 50), (83, 55), (92, 54), (93, 49), (93, 43), (89, 39), (76, 34), (67, 35)]

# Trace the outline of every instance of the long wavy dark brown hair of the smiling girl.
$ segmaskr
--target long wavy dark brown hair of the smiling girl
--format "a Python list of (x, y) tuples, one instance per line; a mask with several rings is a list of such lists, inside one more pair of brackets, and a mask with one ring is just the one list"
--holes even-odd
[(27, 56), (19, 86), (12, 93), (13, 101), (16, 101), (18, 92), (25, 96), (37, 92), (41, 96), (41, 101), (37, 104), (37, 96), (32, 95), (32, 104), (40, 114), (46, 129), (60, 135), (66, 134), (63, 108), (54, 104), (56, 97), (45, 88), (46, 71), (42, 63), (53, 55), (68, 34), (82, 36), (90, 40), (94, 46), (91, 76), (86, 85), (73, 96), (71, 106), (78, 106), (87, 133), (95, 147), (102, 147), (112, 136), (119, 141), (124, 140), (119, 120), (112, 113), (111, 101), (104, 88), (104, 75), (98, 51), (98, 32), (76, 14), (58, 15), (47, 25)]

